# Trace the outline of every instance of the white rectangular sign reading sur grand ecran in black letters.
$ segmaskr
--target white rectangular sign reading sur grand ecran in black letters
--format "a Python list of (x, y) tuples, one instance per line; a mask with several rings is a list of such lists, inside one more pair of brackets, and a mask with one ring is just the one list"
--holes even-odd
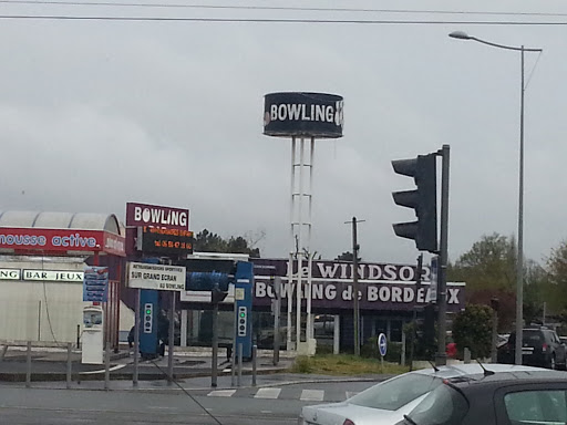
[(127, 280), (130, 288), (184, 291), (185, 278), (185, 267), (128, 262)]

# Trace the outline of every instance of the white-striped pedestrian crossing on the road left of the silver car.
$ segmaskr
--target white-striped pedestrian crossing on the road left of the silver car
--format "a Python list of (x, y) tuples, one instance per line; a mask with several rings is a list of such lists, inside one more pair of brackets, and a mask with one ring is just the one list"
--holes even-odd
[(207, 393), (209, 397), (245, 397), (261, 400), (300, 400), (303, 402), (342, 402), (358, 394), (353, 391), (311, 390), (298, 387), (243, 387), (231, 390), (214, 390)]

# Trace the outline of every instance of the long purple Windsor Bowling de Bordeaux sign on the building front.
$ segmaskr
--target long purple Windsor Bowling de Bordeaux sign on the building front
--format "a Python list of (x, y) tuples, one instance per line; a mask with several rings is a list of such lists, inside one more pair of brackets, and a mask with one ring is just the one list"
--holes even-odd
[[(274, 276), (281, 277), (282, 303), (297, 294), (297, 276), (307, 282), (308, 268), (288, 270), (288, 260), (254, 259), (255, 305), (270, 305), (275, 298), (270, 284)], [(423, 284), (415, 284), (416, 273), (421, 272)], [(292, 279), (289, 282), (289, 273)], [(311, 305), (313, 308), (352, 309), (354, 290), (352, 284), (352, 263), (339, 261), (313, 261)], [(359, 277), (359, 305), (368, 310), (412, 310), (415, 305), (424, 305), (433, 300), (429, 281), (431, 269), (424, 266), (417, 271), (415, 266), (392, 263), (361, 263)], [(465, 284), (447, 282), (447, 310), (460, 311), (465, 307)], [(307, 300), (307, 286), (301, 291)], [(293, 301), (295, 302), (295, 301)]]

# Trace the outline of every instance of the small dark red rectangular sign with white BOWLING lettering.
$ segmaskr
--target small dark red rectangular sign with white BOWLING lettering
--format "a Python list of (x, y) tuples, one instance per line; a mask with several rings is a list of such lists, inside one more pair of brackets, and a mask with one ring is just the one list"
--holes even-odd
[(126, 226), (164, 227), (167, 229), (189, 229), (189, 210), (148, 204), (126, 204)]

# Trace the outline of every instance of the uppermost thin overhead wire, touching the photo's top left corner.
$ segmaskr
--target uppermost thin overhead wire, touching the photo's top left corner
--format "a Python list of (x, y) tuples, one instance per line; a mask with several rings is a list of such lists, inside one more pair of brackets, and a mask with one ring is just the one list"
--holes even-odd
[(567, 17), (557, 12), (497, 12), (473, 10), (411, 10), (411, 9), (372, 9), (372, 8), (310, 8), (288, 6), (221, 6), (221, 4), (182, 4), (182, 3), (140, 3), (140, 2), (107, 2), (107, 1), (59, 1), (59, 0), (0, 0), (9, 4), (51, 4), (51, 6), (100, 6), (121, 8), (178, 8), (178, 9), (226, 9), (226, 10), (272, 10), (272, 11), (306, 11), (306, 12), (363, 12), (363, 13), (414, 13), (414, 14), (475, 14), (475, 15), (508, 15), (508, 17)]

